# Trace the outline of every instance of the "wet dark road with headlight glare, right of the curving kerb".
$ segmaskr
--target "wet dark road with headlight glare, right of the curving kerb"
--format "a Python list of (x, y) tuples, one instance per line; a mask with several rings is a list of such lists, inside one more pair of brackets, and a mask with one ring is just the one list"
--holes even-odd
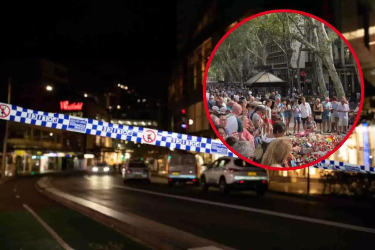
[(236, 249), (359, 249), (375, 245), (374, 208), (367, 204), (275, 194), (257, 198), (250, 192), (223, 196), (210, 190), (204, 194), (192, 186), (169, 187), (162, 178), (153, 178), (151, 184), (125, 185), (121, 177), (92, 175), (57, 178), (52, 185)]

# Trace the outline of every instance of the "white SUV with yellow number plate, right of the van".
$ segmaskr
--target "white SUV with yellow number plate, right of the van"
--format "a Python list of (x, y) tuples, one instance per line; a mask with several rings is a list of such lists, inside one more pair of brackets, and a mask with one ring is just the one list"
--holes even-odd
[(230, 190), (254, 190), (264, 195), (268, 190), (267, 169), (251, 165), (240, 158), (220, 157), (207, 166), (201, 176), (201, 189), (219, 187), (222, 193)]

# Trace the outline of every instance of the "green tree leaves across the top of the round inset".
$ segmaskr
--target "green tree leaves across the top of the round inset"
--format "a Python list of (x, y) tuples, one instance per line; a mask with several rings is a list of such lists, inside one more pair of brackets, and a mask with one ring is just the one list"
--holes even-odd
[[(259, 65), (267, 64), (266, 46), (269, 43), (276, 44), (289, 56), (288, 41), (298, 40), (323, 57), (329, 52), (332, 41), (339, 39), (339, 36), (328, 27), (325, 27), (324, 34), (319, 25), (322, 25), (321, 22), (307, 16), (284, 12), (263, 15), (245, 22), (220, 44), (208, 69), (208, 77), (224, 80), (227, 72), (232, 80), (240, 81), (240, 64), (245, 65), (246, 60), (252, 63), (256, 61)], [(325, 36), (328, 39), (319, 40), (319, 44), (314, 43), (314, 32), (316, 37)]]

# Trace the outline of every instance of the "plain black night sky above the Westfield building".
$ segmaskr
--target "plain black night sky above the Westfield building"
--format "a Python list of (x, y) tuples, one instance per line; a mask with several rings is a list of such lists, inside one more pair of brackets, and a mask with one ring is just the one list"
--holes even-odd
[(1, 3), (2, 57), (62, 61), (123, 79), (145, 97), (166, 97), (175, 51), (174, 2), (109, 2)]

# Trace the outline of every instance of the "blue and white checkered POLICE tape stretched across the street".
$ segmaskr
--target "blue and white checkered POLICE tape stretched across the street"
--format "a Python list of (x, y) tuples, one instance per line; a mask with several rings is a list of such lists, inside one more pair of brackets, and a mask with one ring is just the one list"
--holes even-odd
[[(7, 103), (0, 103), (0, 119), (171, 149), (237, 157), (218, 139), (36, 111)], [(375, 174), (373, 167), (332, 160), (323, 160), (321, 163), (314, 165), (314, 168)]]

